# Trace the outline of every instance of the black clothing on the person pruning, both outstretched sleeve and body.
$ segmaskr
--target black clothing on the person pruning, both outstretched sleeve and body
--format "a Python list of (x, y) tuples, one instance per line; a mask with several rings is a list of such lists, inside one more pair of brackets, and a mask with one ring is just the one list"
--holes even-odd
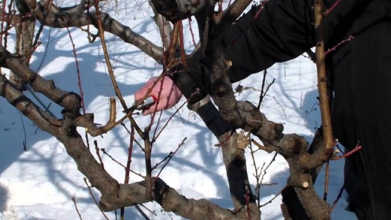
[[(329, 8), (335, 0), (324, 2)], [(231, 81), (291, 60), (313, 47), (312, 8), (313, 0), (269, 0), (257, 18), (259, 7), (224, 31), (221, 43), (226, 59), (233, 62), (228, 72)], [(326, 57), (334, 94), (333, 132), (346, 148), (354, 148), (358, 141), (363, 147), (348, 158), (352, 166), (346, 173), (346, 188), (359, 219), (389, 219), (391, 0), (341, 0), (325, 17), (324, 27), (326, 48), (354, 37)], [(201, 74), (206, 80), (207, 72)], [(203, 80), (198, 79), (198, 86)], [(188, 87), (185, 96), (193, 89)]]

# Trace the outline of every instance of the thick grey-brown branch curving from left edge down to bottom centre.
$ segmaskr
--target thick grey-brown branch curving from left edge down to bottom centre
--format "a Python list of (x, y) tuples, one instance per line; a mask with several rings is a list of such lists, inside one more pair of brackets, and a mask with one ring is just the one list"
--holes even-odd
[[(99, 205), (104, 211), (155, 200), (165, 211), (171, 211), (184, 218), (194, 220), (209, 218), (235, 220), (243, 219), (246, 215), (245, 209), (232, 212), (205, 199), (185, 198), (160, 178), (154, 181), (152, 198), (145, 194), (145, 181), (130, 185), (119, 184), (95, 160), (72, 124), (61, 122), (41, 110), (14, 88), (1, 74), (0, 95), (5, 97), (8, 102), (36, 123), (43, 131), (49, 132), (64, 144), (67, 153), (75, 160), (79, 171), (87, 176), (91, 185), (101, 192), (102, 197)], [(67, 118), (64, 119), (64, 121), (67, 120)]]

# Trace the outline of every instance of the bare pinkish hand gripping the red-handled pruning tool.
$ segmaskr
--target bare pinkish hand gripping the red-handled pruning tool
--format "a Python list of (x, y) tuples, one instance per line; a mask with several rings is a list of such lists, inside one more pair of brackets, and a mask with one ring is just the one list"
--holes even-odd
[[(140, 88), (136, 93), (134, 94), (135, 100), (142, 99), (149, 88), (152, 88), (153, 83), (157, 80), (157, 77), (152, 77), (147, 81), (147, 83)], [(163, 82), (163, 87), (161, 86)], [(160, 97), (159, 97), (159, 91), (161, 89)], [(159, 98), (157, 102), (152, 104), (150, 107), (145, 108), (142, 111), (143, 115), (152, 114), (156, 111), (166, 110), (173, 107), (176, 103), (179, 102), (180, 97), (182, 93), (180, 92), (179, 88), (177, 88), (174, 84), (174, 82), (167, 76), (160, 79), (160, 81), (152, 88), (151, 92), (147, 96), (152, 96), (154, 99)], [(157, 105), (157, 107), (156, 107)]]

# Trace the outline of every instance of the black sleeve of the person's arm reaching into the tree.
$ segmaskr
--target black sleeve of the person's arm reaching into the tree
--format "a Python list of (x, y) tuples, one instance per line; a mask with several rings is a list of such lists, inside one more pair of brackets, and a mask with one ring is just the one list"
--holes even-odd
[[(324, 0), (325, 8), (336, 0)], [(343, 0), (324, 19), (327, 41), (352, 8), (364, 0)], [(263, 10), (253, 7), (221, 35), (226, 59), (233, 66), (228, 74), (238, 82), (277, 62), (298, 57), (315, 45), (314, 0), (269, 0)], [(257, 15), (258, 13), (258, 15)]]

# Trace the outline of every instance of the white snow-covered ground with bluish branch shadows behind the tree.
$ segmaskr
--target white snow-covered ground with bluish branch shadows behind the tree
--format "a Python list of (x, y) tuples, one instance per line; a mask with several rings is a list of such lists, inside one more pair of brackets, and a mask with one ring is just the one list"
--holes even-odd
[[(74, 1), (64, 2), (71, 4)], [(149, 9), (148, 1), (118, 2), (118, 8), (109, 11), (110, 14), (130, 26), (132, 30), (160, 45), (160, 37), (151, 19), (152, 10)], [(195, 28), (195, 22), (192, 22), (192, 26)], [(185, 25), (185, 29), (187, 31), (185, 41), (189, 44), (187, 49), (191, 50), (193, 44), (188, 24)], [(108, 99), (115, 94), (105, 68), (100, 41), (88, 44), (85, 32), (78, 28), (70, 28), (70, 32), (76, 46), (87, 112), (95, 114), (96, 123), (105, 124), (109, 117)], [(12, 37), (13, 34), (10, 38)], [(130, 105), (133, 102), (134, 92), (150, 77), (157, 76), (161, 66), (136, 47), (124, 44), (117, 37), (106, 34), (106, 38), (119, 87)], [(60, 88), (78, 92), (75, 60), (66, 30), (45, 28), (40, 40), (43, 44), (34, 53), (32, 69), (39, 69), (42, 76), (53, 79)], [(11, 48), (12, 45), (8, 49), (12, 50)], [(276, 78), (276, 82), (267, 93), (261, 108), (262, 112), (270, 120), (283, 123), (285, 133), (298, 133), (310, 142), (315, 128), (320, 126), (315, 65), (301, 56), (269, 68), (266, 81), (270, 83), (273, 78)], [(260, 88), (261, 80), (261, 73), (254, 74), (240, 82), (240, 85)], [(235, 84), (234, 87), (237, 85)], [(247, 90), (237, 96), (240, 100), (257, 103), (259, 92)], [(29, 97), (34, 100), (31, 95)], [(39, 97), (45, 105), (50, 103), (43, 96)], [(184, 101), (182, 99), (177, 107)], [(60, 117), (61, 109), (58, 106), (53, 104), (50, 110)], [(175, 110), (173, 108), (164, 111), (161, 123), (165, 123)], [(118, 107), (117, 111), (120, 116), (121, 108)], [(141, 128), (146, 127), (150, 122), (148, 116), (136, 116), (136, 120)], [(130, 128), (129, 122), (125, 124)], [(158, 130), (161, 127), (160, 125)], [(79, 132), (84, 134), (82, 129)], [(202, 120), (186, 108), (179, 110), (179, 114), (174, 116), (154, 143), (152, 164), (161, 161), (174, 151), (184, 137), (187, 137), (185, 144), (163, 170), (161, 178), (188, 198), (207, 198), (223, 207), (231, 207), (220, 149), (214, 147), (217, 139), (206, 129)], [(23, 151), (24, 140), (26, 152)], [(129, 134), (123, 127), (119, 126), (103, 137), (89, 137), (90, 143), (93, 140), (97, 140), (99, 147), (105, 148), (118, 161), (126, 162), (130, 140)], [(91, 150), (94, 151), (92, 145)], [(250, 181), (255, 186), (256, 181), (252, 176), (254, 165), (248, 149), (246, 153)], [(263, 163), (267, 165), (273, 158), (273, 154), (261, 151), (258, 151), (255, 156), (258, 167)], [(102, 157), (106, 170), (118, 181), (123, 182), (123, 168), (108, 156)], [(144, 173), (144, 155), (139, 148), (134, 148), (132, 159), (131, 169)], [(343, 161), (332, 161), (330, 168), (327, 201), (332, 203), (343, 185)], [(322, 172), (316, 184), (320, 194), (323, 194), (324, 176)], [(287, 177), (287, 164), (281, 156), (277, 156), (263, 179), (263, 183), (275, 184), (262, 186), (261, 203), (269, 201), (278, 194), (284, 187)], [(141, 179), (130, 175), (130, 180)], [(94, 190), (94, 195), (95, 198), (99, 198), (98, 191)], [(47, 133), (37, 130), (33, 123), (0, 98), (0, 219), (77, 220), (79, 217), (72, 197), (75, 197), (84, 220), (105, 219), (89, 195), (83, 175), (77, 171), (74, 161), (66, 154), (62, 144)], [(262, 207), (262, 219), (282, 219), (280, 204), (279, 196)], [(333, 219), (355, 219), (352, 213), (344, 210), (346, 205), (344, 194), (332, 214)], [(182, 219), (173, 213), (164, 212), (157, 203), (147, 203), (145, 206), (153, 211), (152, 213), (141, 206), (150, 219)], [(134, 207), (126, 208), (125, 214), (128, 220), (144, 219)], [(114, 212), (106, 215), (109, 219), (115, 219)]]

